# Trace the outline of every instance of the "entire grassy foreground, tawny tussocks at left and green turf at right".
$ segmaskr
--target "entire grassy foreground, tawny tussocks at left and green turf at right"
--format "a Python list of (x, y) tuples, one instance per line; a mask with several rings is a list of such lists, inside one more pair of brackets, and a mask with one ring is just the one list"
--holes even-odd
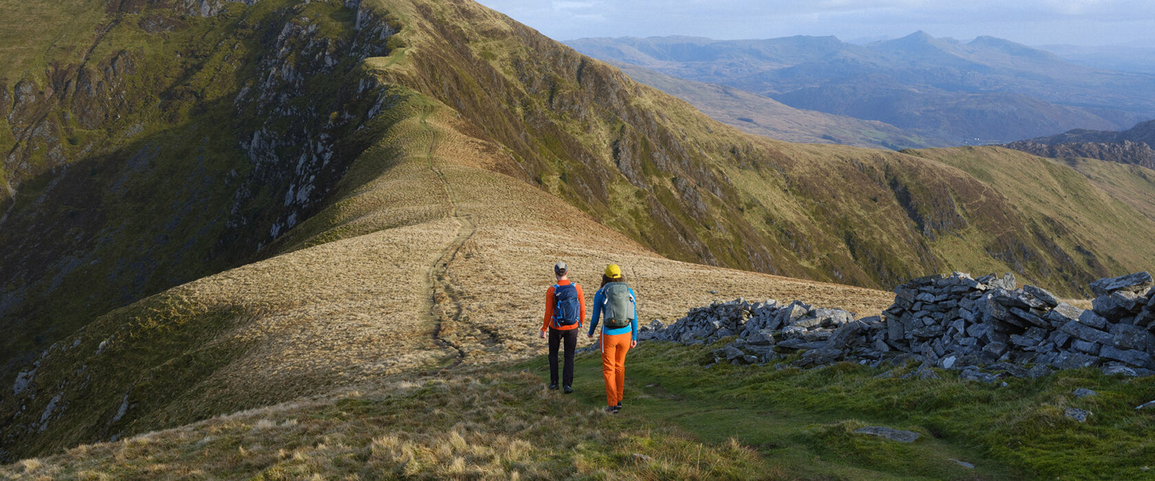
[[(714, 346), (716, 347), (716, 346)], [(0, 467), (7, 475), (298, 479), (322, 476), (624, 479), (1140, 479), (1155, 397), (1094, 369), (1007, 386), (900, 379), (912, 367), (808, 371), (701, 366), (711, 346), (643, 344), (627, 361), (625, 409), (601, 411), (596, 353), (573, 396), (544, 390), (545, 360), (364, 385)], [(492, 369), (492, 370), (491, 370)], [(1075, 398), (1072, 391), (1098, 392)], [(1063, 414), (1094, 414), (1079, 423)], [(919, 433), (911, 444), (854, 434)], [(966, 468), (957, 459), (975, 465)]]

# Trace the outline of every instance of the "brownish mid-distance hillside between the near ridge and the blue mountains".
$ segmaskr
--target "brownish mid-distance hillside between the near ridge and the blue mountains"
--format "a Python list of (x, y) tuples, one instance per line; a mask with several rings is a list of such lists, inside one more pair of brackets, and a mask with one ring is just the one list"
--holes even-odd
[(882, 122), (803, 111), (745, 90), (671, 77), (628, 63), (611, 63), (629, 78), (686, 100), (714, 120), (754, 135), (787, 142), (892, 150), (947, 145), (945, 141), (917, 137)]

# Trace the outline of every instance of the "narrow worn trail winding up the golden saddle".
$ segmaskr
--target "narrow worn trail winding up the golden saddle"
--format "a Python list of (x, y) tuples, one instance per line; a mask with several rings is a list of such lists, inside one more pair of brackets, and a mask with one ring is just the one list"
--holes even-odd
[(457, 197), (446, 179), (445, 172), (433, 163), (433, 151), (438, 143), (438, 133), (433, 127), (430, 127), (427, 118), (432, 113), (432, 107), (427, 108), (422, 114), (422, 127), (430, 136), (429, 150), (425, 152), (425, 161), (429, 164), (430, 171), (437, 174), (438, 179), (441, 180), (441, 188), (445, 190), (446, 200), (449, 202), (449, 216), (453, 218), (454, 223), (457, 225), (457, 236), (449, 243), (448, 247), (438, 260), (430, 266), (426, 275), (427, 288), (430, 291), (427, 299), (429, 308), (426, 313), (429, 314), (430, 321), (433, 323), (433, 340), (441, 347), (453, 348), (456, 351), (456, 355), (453, 361), (445, 366), (442, 369), (452, 369), (460, 366), (465, 360), (465, 350), (462, 348), (460, 343), (450, 340), (447, 336), (453, 335), (454, 329), (452, 324), (460, 323), (462, 316), (462, 306), (460, 300), (460, 293), (457, 288), (453, 285), (449, 273), (449, 264), (457, 258), (461, 253), (462, 246), (477, 232), (477, 221), (474, 219), (472, 215), (462, 213), (459, 209)]

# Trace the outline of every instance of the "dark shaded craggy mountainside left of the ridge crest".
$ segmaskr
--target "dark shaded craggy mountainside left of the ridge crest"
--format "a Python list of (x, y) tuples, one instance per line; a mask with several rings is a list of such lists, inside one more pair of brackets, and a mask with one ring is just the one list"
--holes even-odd
[(393, 98), (360, 65), (389, 51), (396, 24), (382, 15), (106, 8), (75, 46), (87, 53), (0, 89), (13, 134), (0, 326), (14, 333), (0, 375), (94, 313), (264, 256), (316, 211), (366, 146), (353, 134)]

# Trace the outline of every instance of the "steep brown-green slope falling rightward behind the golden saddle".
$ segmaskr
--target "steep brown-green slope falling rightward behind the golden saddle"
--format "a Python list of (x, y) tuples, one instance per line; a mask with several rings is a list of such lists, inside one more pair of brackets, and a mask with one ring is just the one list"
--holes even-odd
[[(385, 5), (409, 45), (367, 61), (387, 82), (440, 99), (517, 176), (668, 257), (887, 288), (931, 271), (1014, 270), (1067, 294), (1145, 265), (1070, 265), (1073, 247), (1049, 239), (1071, 227), (1031, 226), (1048, 205), (1015, 204), (938, 160), (751, 136), (476, 3)], [(1028, 227), (985, 233), (1006, 225)]]

